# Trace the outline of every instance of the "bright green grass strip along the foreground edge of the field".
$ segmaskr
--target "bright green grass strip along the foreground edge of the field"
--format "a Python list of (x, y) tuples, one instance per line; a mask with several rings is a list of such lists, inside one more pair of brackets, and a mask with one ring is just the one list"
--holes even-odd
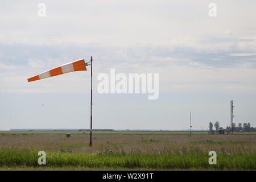
[[(256, 169), (254, 152), (217, 154), (217, 164), (208, 163), (207, 152), (142, 154), (101, 151), (96, 154), (46, 152), (46, 167), (158, 168), (158, 169)], [(1, 167), (42, 167), (38, 151), (0, 150)]]

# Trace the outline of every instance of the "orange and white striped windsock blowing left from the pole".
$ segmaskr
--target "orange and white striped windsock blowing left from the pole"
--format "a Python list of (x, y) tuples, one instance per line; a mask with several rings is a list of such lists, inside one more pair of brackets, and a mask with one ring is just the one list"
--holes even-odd
[(57, 76), (63, 73), (76, 72), (76, 71), (86, 71), (84, 59), (79, 59), (67, 64), (60, 65), (57, 68), (50, 69), (46, 72), (40, 73), (39, 75), (28, 78), (27, 81), (30, 82), (30, 81), (41, 80), (43, 78), (48, 78), (51, 76)]

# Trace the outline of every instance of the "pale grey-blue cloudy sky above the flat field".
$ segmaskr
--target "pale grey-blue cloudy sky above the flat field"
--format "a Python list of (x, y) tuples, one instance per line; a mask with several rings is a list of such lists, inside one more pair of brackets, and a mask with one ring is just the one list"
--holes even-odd
[[(209, 16), (209, 4), (216, 15)], [(46, 5), (40, 17), (39, 3)], [(27, 82), (93, 56), (93, 128), (256, 126), (256, 2), (5, 1), (0, 6), (0, 130), (89, 128), (90, 71)], [(159, 98), (99, 94), (100, 73), (159, 73)], [(44, 104), (44, 106), (42, 106)]]

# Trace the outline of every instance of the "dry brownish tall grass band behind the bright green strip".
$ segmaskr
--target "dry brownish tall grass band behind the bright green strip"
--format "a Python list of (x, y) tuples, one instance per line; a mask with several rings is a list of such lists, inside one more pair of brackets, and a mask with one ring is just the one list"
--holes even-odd
[(256, 152), (256, 135), (94, 135), (93, 147), (89, 147), (88, 135), (35, 134), (35, 135), (0, 135), (0, 150), (35, 150), (52, 152), (87, 152), (102, 150), (121, 152), (151, 153), (151, 151), (175, 152), (176, 150), (211, 150), (217, 153), (224, 148), (230, 153), (240, 151)]

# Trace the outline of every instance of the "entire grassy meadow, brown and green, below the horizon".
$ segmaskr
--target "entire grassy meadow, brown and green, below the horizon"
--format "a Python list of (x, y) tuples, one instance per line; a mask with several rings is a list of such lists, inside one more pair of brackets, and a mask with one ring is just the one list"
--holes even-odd
[[(200, 169), (255, 170), (256, 135), (208, 135), (171, 131), (96, 131), (93, 147), (89, 133), (73, 131), (1, 131), (0, 169)], [(209, 151), (217, 152), (210, 165)], [(46, 152), (46, 165), (38, 164)]]

